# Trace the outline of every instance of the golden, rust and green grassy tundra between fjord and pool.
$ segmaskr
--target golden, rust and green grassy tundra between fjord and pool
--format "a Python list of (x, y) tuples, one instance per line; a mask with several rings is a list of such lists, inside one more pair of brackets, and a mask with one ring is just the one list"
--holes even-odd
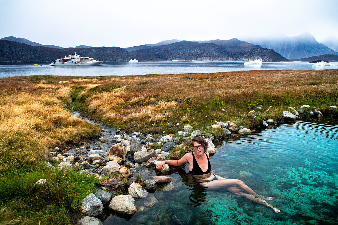
[[(72, 107), (129, 132), (156, 135), (192, 125), (217, 138), (220, 131), (211, 128), (215, 121), (249, 128), (281, 117), (288, 107), (325, 111), (338, 104), (337, 82), (338, 70), (2, 78), (0, 223), (69, 224), (68, 211), (79, 212), (82, 199), (96, 190), (100, 181), (77, 173), (78, 168), (52, 170), (41, 164), (56, 146), (99, 137), (97, 126), (72, 117)], [(241, 118), (260, 105), (256, 119)], [(176, 150), (172, 156), (182, 157), (184, 151)], [(34, 186), (41, 178), (46, 183)]]

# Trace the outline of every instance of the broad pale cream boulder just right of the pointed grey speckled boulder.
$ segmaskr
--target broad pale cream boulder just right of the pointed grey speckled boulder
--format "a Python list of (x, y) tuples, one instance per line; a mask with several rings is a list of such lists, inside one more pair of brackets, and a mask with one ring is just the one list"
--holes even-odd
[(130, 195), (118, 195), (112, 198), (109, 208), (122, 214), (134, 214), (137, 211), (136, 202)]

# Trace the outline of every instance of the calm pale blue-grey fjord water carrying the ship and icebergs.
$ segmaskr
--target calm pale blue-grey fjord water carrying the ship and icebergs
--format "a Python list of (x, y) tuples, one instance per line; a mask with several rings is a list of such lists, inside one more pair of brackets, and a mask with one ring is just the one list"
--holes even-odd
[[(38, 66), (34, 66), (38, 64)], [(330, 66), (330, 64), (335, 64)], [(147, 61), (103, 62), (102, 66), (49, 66), (49, 63), (1, 62), (0, 77), (28, 75), (60, 76), (124, 76), (145, 74), (216, 73), (237, 70), (297, 70), (338, 69), (338, 62), (316, 66), (307, 62), (263, 62), (262, 65), (244, 65), (235, 61)]]

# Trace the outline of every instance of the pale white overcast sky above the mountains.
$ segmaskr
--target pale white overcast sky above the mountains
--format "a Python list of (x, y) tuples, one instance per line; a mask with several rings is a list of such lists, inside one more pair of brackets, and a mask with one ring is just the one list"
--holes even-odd
[(131, 47), (309, 32), (338, 38), (337, 0), (0, 0), (0, 38), (44, 45)]

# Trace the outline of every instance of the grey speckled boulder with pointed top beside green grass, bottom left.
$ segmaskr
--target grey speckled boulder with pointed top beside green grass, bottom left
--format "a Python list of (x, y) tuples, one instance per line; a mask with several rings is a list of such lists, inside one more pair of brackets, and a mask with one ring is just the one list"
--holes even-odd
[(102, 214), (103, 205), (93, 193), (87, 195), (81, 204), (81, 213), (87, 216), (99, 216)]

